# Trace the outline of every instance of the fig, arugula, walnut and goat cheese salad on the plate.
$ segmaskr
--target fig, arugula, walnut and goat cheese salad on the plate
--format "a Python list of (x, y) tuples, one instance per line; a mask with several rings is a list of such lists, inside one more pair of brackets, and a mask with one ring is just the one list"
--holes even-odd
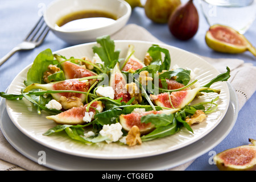
[[(170, 52), (157, 44), (148, 47), (144, 59), (135, 56), (133, 44), (120, 57), (110, 36), (97, 39), (93, 57), (65, 57), (46, 49), (28, 70), (20, 94), (1, 92), (7, 100), (26, 98), (48, 113), (56, 123), (43, 135), (65, 133), (86, 144), (98, 142), (127, 146), (176, 134), (182, 127), (193, 133), (218, 105), (219, 89), (230, 69), (207, 84), (196, 79), (196, 70), (171, 67)], [(214, 93), (210, 101), (193, 103)]]

